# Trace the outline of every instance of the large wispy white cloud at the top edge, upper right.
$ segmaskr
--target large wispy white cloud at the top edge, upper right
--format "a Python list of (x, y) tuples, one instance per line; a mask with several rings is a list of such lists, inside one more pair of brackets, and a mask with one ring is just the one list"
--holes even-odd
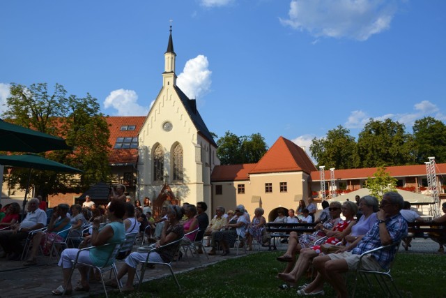
[(292, 0), (289, 19), (280, 19), (312, 36), (367, 40), (390, 28), (396, 0)]

